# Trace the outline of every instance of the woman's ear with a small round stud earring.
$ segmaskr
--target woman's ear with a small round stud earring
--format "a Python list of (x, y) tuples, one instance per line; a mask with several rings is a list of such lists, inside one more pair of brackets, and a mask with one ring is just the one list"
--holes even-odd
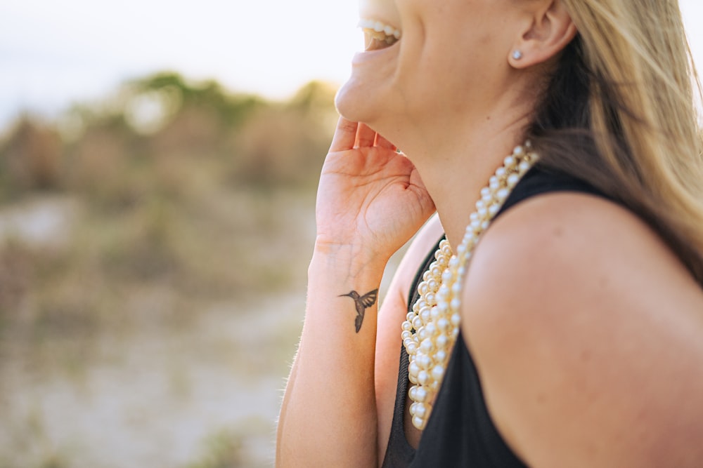
[[(517, 69), (546, 62), (574, 39), (576, 25), (561, 0), (539, 2), (517, 37), (508, 62)], [(516, 53), (519, 51), (519, 53)]]

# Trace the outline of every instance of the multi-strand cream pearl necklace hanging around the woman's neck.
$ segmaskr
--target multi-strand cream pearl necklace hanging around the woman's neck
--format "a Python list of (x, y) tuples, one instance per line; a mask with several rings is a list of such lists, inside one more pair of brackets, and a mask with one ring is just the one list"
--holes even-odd
[[(449, 241), (439, 243), (435, 261), (418, 285), (420, 298), (403, 322), (401, 338), (408, 352), (410, 365), (408, 379), (413, 383), (408, 396), (413, 401), (410, 414), (413, 425), (425, 429), (432, 413), (432, 402), (439, 391), (449, 352), (459, 333), (460, 293), (466, 274), (466, 263), (471, 258), (481, 234), (501, 210), (510, 192), (522, 176), (537, 161), (530, 142), (516, 147), (505, 158), (503, 166), (481, 190), (481, 199), (471, 213), (464, 238), (453, 255)], [(413, 333), (415, 330), (415, 333)]]

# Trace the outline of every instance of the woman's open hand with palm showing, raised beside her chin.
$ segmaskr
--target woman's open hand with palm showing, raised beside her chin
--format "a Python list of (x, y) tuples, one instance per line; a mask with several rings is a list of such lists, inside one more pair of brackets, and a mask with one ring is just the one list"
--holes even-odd
[(318, 187), (318, 246), (387, 260), (432, 213), (413, 163), (365, 124), (340, 117)]

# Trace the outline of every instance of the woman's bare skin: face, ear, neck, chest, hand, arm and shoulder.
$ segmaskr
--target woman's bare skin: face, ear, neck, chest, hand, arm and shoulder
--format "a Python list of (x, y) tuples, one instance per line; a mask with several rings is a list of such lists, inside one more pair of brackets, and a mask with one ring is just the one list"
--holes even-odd
[[(458, 245), (576, 34), (558, 0), (378, 0), (362, 15), (403, 36), (357, 55), (337, 95), (344, 117), (318, 189), (306, 317), (278, 426), (283, 467), (382, 462), (415, 271), (443, 230)], [(340, 295), (378, 288), (435, 209), (356, 333), (354, 303)], [(700, 286), (641, 220), (560, 193), (520, 203), (485, 233), (461, 326), (494, 422), (530, 466), (694, 467), (701, 311)], [(421, 434), (405, 427), (416, 445)]]

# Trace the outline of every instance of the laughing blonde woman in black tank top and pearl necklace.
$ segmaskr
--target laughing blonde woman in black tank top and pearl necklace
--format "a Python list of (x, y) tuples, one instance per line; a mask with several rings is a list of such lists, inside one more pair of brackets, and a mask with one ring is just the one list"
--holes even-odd
[[(703, 466), (702, 144), (676, 0), (361, 16), (278, 464)], [(377, 316), (387, 260), (434, 210)]]

